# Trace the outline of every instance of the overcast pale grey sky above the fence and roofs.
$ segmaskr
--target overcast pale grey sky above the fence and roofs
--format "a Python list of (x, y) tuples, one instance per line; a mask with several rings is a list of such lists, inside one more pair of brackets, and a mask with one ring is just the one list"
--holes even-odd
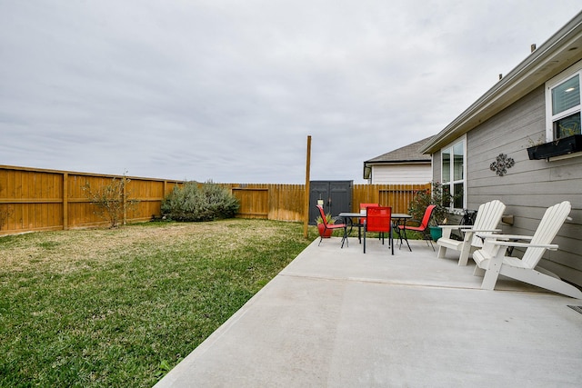
[(0, 0), (0, 164), (362, 183), (579, 0)]

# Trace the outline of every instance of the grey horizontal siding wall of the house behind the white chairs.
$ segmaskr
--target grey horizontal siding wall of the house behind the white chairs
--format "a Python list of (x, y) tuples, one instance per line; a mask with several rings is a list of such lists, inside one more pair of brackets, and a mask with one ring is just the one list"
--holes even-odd
[[(532, 235), (547, 207), (569, 201), (572, 221), (554, 239), (559, 250), (547, 251), (540, 264), (582, 286), (582, 157), (547, 162), (527, 156), (527, 147), (545, 134), (545, 111), (542, 85), (467, 133), (467, 208), (499, 199), (506, 214), (514, 215), (503, 233)], [(515, 160), (504, 176), (489, 168), (498, 154)], [(433, 155), (433, 174), (438, 180), (439, 153)]]

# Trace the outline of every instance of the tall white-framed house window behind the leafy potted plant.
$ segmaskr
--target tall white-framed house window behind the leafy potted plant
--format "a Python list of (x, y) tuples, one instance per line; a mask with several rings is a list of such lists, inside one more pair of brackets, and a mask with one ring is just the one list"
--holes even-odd
[(441, 150), (441, 183), (455, 209), (465, 208), (465, 154), (465, 138)]

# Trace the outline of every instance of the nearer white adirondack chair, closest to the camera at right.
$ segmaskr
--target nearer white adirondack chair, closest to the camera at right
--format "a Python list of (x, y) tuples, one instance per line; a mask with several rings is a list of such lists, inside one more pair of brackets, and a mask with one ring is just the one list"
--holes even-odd
[[(527, 284), (537, 285), (555, 293), (562, 293), (573, 298), (582, 299), (582, 291), (572, 284), (562, 281), (556, 274), (536, 265), (546, 250), (556, 251), (557, 244), (550, 244), (557, 231), (567, 219), (571, 205), (564, 201), (555, 204), (546, 210), (546, 214), (539, 222), (533, 236), (489, 234), (482, 249), (473, 254), (477, 263), (475, 274), (485, 273), (482, 289), (493, 290), (499, 274), (517, 279)], [(529, 243), (519, 243), (519, 240), (528, 240)], [(516, 246), (527, 248), (521, 259), (506, 256), (507, 248)]]

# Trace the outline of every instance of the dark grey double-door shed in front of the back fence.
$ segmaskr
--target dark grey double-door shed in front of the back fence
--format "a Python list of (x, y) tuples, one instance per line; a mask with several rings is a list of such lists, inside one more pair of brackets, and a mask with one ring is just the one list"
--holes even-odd
[(323, 202), (326, 213), (336, 216), (352, 211), (352, 186), (354, 181), (311, 181), (309, 183), (309, 224), (316, 224), (318, 201)]

